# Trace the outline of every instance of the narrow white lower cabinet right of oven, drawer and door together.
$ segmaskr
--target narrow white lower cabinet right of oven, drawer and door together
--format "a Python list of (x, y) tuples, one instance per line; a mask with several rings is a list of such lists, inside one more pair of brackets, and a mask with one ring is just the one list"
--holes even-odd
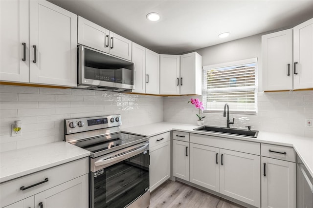
[(170, 132), (150, 137), (150, 191), (171, 176)]

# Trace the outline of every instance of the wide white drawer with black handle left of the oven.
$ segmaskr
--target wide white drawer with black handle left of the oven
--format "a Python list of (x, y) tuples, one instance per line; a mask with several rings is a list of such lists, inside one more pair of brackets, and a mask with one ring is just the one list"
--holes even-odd
[[(88, 157), (4, 182), (0, 184), (0, 207), (20, 201), (87, 173), (89, 173)], [(45, 183), (21, 190), (21, 187), (29, 187), (44, 182), (46, 178), (48, 181)]]

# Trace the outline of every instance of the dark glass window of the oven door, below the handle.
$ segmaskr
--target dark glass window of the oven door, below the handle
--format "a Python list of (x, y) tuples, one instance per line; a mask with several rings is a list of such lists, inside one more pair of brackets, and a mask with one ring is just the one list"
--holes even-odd
[(91, 172), (94, 208), (123, 208), (149, 189), (149, 150)]

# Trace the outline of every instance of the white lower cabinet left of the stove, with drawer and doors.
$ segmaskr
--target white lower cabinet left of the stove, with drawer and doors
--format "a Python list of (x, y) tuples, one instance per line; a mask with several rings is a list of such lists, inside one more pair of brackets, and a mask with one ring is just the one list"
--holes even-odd
[(87, 208), (88, 157), (0, 184), (0, 204), (1, 208)]

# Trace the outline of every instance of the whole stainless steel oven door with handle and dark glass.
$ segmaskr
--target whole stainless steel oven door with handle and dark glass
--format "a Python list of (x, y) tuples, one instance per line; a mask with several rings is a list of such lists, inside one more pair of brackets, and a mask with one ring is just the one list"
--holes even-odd
[(95, 167), (90, 172), (91, 208), (123, 208), (149, 189), (149, 141), (91, 159), (90, 165)]

